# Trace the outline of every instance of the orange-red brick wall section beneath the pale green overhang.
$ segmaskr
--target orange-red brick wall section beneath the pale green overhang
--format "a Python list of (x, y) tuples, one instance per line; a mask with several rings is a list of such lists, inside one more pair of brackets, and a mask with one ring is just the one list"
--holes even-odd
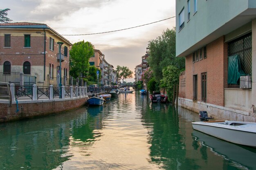
[(186, 98), (193, 99), (193, 75), (198, 75), (198, 99), (201, 97), (201, 73), (207, 73), (207, 103), (224, 106), (227, 87), (227, 43), (224, 36), (207, 44), (207, 58), (193, 63), (193, 54), (186, 56)]

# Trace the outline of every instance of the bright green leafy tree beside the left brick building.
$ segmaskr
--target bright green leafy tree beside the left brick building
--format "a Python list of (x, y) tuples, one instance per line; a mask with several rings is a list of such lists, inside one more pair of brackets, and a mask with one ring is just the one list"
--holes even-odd
[(94, 55), (93, 45), (90, 42), (76, 42), (70, 50), (70, 75), (73, 77), (87, 77), (89, 59)]

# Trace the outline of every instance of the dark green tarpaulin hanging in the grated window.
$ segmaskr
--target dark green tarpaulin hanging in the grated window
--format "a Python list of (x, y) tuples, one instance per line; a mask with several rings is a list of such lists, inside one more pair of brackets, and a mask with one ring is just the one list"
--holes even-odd
[(228, 84), (237, 84), (237, 81), (240, 78), (240, 76), (247, 75), (241, 68), (240, 59), (238, 55), (229, 56), (228, 64)]

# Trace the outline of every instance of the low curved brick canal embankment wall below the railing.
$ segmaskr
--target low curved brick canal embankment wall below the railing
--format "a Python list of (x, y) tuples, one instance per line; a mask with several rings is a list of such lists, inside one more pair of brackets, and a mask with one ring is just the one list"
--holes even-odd
[(73, 110), (83, 106), (87, 99), (88, 97), (54, 102), (22, 102), (18, 104), (18, 112), (16, 112), (16, 104), (12, 104), (11, 107), (8, 104), (0, 104), (0, 122), (29, 119)]

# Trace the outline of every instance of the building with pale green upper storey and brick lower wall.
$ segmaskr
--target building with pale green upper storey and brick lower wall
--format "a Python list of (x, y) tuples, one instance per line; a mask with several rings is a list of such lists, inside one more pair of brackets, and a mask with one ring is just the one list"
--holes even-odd
[(179, 104), (255, 122), (256, 1), (176, 0), (176, 16), (176, 56), (186, 57)]

